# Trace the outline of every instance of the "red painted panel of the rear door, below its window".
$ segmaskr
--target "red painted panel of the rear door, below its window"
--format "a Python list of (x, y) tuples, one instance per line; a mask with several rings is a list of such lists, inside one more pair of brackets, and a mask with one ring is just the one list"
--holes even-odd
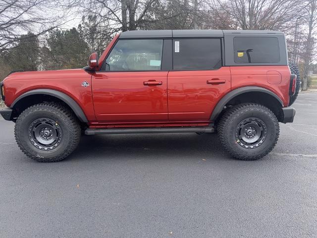
[[(207, 80), (217, 79), (225, 83), (207, 83)], [(168, 119), (171, 121), (209, 120), (217, 102), (231, 89), (230, 67), (170, 71), (167, 80)]]

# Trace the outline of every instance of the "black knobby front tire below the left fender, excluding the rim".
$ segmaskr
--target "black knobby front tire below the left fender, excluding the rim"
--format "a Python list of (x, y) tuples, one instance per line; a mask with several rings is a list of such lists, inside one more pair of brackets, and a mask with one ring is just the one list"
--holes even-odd
[[(54, 121), (60, 130), (60, 140), (56, 147), (43, 150), (34, 145), (30, 137), (30, 126), (38, 119)], [(78, 146), (81, 128), (76, 116), (67, 107), (58, 103), (41, 103), (24, 110), (14, 127), (15, 140), (22, 152), (39, 162), (57, 162), (70, 155)]]

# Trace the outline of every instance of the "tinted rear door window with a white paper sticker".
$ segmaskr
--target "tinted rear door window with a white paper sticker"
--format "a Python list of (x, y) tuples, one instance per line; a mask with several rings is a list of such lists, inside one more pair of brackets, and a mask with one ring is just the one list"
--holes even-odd
[(174, 39), (173, 69), (218, 69), (221, 61), (220, 39)]

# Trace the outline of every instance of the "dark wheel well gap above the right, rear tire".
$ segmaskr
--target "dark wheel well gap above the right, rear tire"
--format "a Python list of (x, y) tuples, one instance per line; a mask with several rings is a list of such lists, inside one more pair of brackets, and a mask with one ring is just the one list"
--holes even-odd
[(218, 121), (221, 118), (222, 114), (225, 112), (227, 108), (230, 108), (234, 105), (241, 104), (241, 103), (261, 104), (267, 107), (269, 110), (271, 110), (275, 114), (278, 121), (281, 121), (284, 117), (281, 103), (272, 95), (264, 93), (264, 92), (245, 92), (235, 96), (230, 101), (228, 101), (224, 109), (221, 111), (221, 113), (217, 117), (216, 121)]

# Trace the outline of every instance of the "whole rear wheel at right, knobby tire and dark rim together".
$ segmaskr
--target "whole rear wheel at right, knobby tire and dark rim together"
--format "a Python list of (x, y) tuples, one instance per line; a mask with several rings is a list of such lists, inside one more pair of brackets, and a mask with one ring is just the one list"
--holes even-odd
[(217, 125), (222, 147), (236, 159), (256, 160), (276, 145), (279, 124), (274, 113), (255, 103), (228, 109)]

